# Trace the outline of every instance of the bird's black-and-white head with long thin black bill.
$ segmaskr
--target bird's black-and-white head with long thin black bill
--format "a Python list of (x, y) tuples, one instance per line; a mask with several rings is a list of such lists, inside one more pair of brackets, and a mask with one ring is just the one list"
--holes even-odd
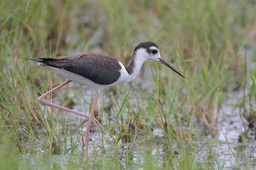
[(137, 45), (134, 48), (133, 55), (137, 55), (138, 57), (140, 57), (140, 59), (143, 59), (143, 60), (157, 60), (162, 64), (164, 64), (165, 66), (172, 69), (175, 73), (185, 78), (181, 73), (179, 73), (179, 71), (177, 71), (175, 68), (170, 66), (168, 62), (166, 62), (164, 59), (161, 58), (160, 50), (158, 46), (156, 45), (156, 43), (152, 41), (142, 42), (139, 45)]

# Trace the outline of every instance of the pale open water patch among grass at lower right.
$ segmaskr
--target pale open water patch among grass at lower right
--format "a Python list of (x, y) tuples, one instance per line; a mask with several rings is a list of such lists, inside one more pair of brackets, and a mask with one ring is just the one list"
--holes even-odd
[[(248, 133), (248, 122), (241, 117), (238, 107), (234, 107), (241, 99), (241, 92), (230, 93), (223, 101), (225, 103), (219, 108), (218, 132), (215, 138), (202, 137), (196, 141), (196, 148), (204, 148), (196, 155), (196, 160), (204, 162), (205, 153), (211, 150), (216, 157), (214, 165), (216, 168), (228, 167), (255, 167), (256, 166), (256, 143), (255, 139)], [(241, 135), (246, 132), (244, 143)], [(218, 163), (217, 163), (218, 162)]]

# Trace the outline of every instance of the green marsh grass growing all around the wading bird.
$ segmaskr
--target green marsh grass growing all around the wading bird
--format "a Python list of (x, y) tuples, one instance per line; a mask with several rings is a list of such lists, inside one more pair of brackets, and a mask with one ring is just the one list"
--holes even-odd
[[(214, 148), (220, 145), (230, 148), (228, 166), (250, 169), (251, 158), (240, 157), (244, 134), (235, 153), (228, 141), (204, 138), (220, 132), (218, 108), (234, 92), (242, 93), (233, 106), (241, 121), (255, 120), (256, 60), (247, 53), (255, 51), (255, 7), (222, 0), (0, 1), (0, 169), (225, 169)], [(94, 152), (83, 162), (86, 120), (37, 102), (64, 79), (21, 58), (93, 51), (129, 64), (134, 46), (147, 40), (186, 79), (146, 62), (140, 76), (147, 81), (104, 90), (105, 132), (93, 131)], [(69, 85), (49, 100), (88, 112), (84, 89)], [(163, 132), (158, 142), (155, 129)]]

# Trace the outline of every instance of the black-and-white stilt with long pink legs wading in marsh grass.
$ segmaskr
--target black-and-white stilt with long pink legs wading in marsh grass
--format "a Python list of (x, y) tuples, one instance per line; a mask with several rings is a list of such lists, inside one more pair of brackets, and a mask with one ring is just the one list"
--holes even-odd
[[(109, 57), (107, 55), (102, 55), (100, 53), (91, 52), (80, 53), (77, 55), (68, 55), (63, 57), (34, 58), (29, 60), (35, 60), (38, 62), (38, 66), (45, 67), (52, 72), (67, 78), (67, 81), (61, 83), (60, 85), (58, 85), (58, 87), (55, 87), (49, 92), (38, 97), (38, 101), (41, 104), (51, 106), (52, 108), (69, 111), (77, 115), (89, 118), (86, 132), (84, 135), (86, 159), (88, 158), (88, 144), (90, 139), (90, 127), (92, 121), (94, 124), (97, 125), (100, 131), (103, 131), (100, 122), (96, 118), (94, 118), (94, 110), (100, 90), (106, 89), (113, 85), (128, 83), (134, 80), (136, 76), (138, 76), (141, 66), (146, 60), (157, 60), (175, 71), (175, 73), (185, 78), (182, 74), (179, 73), (179, 71), (174, 69), (172, 66), (170, 66), (170, 64), (168, 64), (165, 60), (161, 58), (158, 46), (152, 41), (140, 43), (134, 48), (131, 64), (127, 67), (125, 67), (124, 64), (118, 59)], [(70, 83), (70, 81), (76, 81), (77, 83), (86, 85), (96, 90), (96, 96), (93, 101), (90, 115), (70, 110), (63, 106), (49, 103), (48, 101), (44, 101), (44, 97), (49, 96), (64, 85), (67, 85), (67, 83)]]

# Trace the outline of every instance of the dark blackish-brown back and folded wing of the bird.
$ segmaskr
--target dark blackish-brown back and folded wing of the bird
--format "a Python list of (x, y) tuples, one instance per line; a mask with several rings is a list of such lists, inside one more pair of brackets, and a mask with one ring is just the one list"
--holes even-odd
[(114, 83), (120, 77), (119, 60), (99, 53), (81, 53), (77, 55), (38, 58), (47, 66), (65, 69), (100, 85)]

